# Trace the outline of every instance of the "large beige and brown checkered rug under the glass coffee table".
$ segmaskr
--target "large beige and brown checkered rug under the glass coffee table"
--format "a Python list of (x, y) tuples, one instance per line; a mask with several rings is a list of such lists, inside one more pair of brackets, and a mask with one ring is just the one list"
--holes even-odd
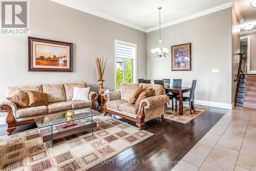
[(153, 134), (110, 116), (95, 116), (91, 132), (43, 143), (38, 129), (0, 137), (2, 170), (86, 170), (130, 148)]

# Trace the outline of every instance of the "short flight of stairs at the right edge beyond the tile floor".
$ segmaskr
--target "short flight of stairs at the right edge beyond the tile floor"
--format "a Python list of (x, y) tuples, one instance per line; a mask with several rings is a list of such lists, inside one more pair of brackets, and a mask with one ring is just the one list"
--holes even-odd
[(240, 75), (236, 106), (256, 109), (256, 75)]

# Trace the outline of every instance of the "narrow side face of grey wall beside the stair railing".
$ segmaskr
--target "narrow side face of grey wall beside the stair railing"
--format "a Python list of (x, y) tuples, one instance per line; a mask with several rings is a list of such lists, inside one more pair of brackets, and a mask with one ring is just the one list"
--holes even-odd
[(232, 99), (234, 102), (234, 95), (236, 94), (237, 82), (233, 80), (237, 78), (238, 74), (238, 63), (240, 61), (240, 23), (238, 21), (236, 13), (232, 9)]

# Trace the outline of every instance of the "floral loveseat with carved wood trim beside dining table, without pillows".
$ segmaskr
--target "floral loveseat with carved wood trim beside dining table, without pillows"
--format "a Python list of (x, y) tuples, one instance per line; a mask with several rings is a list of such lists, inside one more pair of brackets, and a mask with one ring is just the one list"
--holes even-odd
[[(140, 85), (143, 85), (143, 90), (153, 87), (152, 96), (143, 99), (139, 106), (130, 104), (128, 102), (130, 96)], [(104, 98), (106, 100), (103, 106), (104, 115), (109, 112), (135, 121), (140, 130), (142, 130), (145, 121), (159, 116), (164, 119), (164, 105), (169, 101), (163, 86), (143, 83), (122, 83), (120, 91), (105, 93)]]

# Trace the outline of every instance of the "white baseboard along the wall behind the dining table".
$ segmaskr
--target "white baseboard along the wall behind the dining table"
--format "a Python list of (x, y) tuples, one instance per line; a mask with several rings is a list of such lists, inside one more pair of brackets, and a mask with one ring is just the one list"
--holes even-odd
[[(171, 102), (170, 102), (171, 103)], [(183, 102), (188, 103), (188, 102)], [(210, 107), (217, 107), (217, 108), (223, 108), (223, 109), (232, 109), (234, 104), (228, 104), (228, 103), (220, 103), (220, 102), (210, 102), (210, 101), (200, 101), (195, 100), (195, 105), (202, 105), (202, 106), (210, 106)], [(168, 107), (172, 107), (171, 105), (167, 105)]]

